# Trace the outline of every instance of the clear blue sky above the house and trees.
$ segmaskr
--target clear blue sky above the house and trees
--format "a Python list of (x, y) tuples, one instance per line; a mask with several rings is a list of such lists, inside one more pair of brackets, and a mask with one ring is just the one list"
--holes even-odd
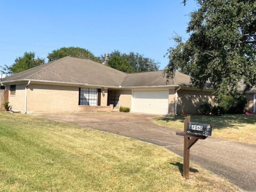
[[(0, 66), (24, 52), (46, 58), (61, 47), (86, 48), (95, 56), (138, 52), (168, 64), (164, 54), (175, 33), (188, 38), (188, 0), (0, 0)], [(47, 61), (47, 58), (46, 58)]]

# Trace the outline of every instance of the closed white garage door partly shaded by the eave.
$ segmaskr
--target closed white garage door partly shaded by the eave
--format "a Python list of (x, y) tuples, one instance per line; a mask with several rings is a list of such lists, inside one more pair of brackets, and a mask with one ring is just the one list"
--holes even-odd
[(168, 90), (134, 91), (132, 95), (132, 112), (168, 114)]

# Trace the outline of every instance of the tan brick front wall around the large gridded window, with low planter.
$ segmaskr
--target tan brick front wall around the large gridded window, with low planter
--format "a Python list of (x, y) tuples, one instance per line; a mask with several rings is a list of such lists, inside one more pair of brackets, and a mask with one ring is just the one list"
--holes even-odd
[[(102, 94), (101, 94), (102, 95)], [(105, 104), (107, 94), (101, 99)], [(79, 106), (79, 88), (74, 86), (56, 86), (30, 84), (28, 86), (27, 110), (33, 112), (77, 112), (110, 111), (110, 106)]]

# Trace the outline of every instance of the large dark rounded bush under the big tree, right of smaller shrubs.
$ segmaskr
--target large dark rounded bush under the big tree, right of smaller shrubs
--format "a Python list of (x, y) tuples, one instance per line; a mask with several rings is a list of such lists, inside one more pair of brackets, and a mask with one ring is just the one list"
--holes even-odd
[(246, 96), (222, 96), (219, 102), (219, 106), (228, 114), (243, 114), (246, 104)]

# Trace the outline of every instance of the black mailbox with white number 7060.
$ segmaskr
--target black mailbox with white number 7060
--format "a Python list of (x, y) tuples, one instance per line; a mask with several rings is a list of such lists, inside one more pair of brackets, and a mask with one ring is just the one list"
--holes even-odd
[(210, 124), (188, 122), (186, 134), (203, 137), (211, 136), (212, 126)]

